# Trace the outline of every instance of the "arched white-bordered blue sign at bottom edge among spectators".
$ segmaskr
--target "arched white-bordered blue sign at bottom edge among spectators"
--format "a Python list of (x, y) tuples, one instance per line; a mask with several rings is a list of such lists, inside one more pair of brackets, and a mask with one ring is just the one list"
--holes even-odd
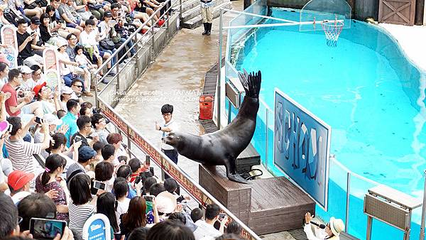
[(83, 227), (84, 240), (110, 240), (111, 226), (104, 214), (94, 214), (89, 217)]

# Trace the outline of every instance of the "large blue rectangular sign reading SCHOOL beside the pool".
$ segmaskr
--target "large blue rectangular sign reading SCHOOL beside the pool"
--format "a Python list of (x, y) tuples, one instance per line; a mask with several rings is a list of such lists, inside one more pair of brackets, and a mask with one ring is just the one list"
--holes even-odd
[(325, 210), (331, 130), (275, 89), (274, 163)]

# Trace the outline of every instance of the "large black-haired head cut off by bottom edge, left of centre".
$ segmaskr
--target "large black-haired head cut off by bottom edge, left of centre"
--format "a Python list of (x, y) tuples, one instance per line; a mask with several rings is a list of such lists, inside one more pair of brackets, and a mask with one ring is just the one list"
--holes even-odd
[(177, 221), (166, 220), (155, 224), (148, 231), (146, 240), (195, 240), (192, 231)]

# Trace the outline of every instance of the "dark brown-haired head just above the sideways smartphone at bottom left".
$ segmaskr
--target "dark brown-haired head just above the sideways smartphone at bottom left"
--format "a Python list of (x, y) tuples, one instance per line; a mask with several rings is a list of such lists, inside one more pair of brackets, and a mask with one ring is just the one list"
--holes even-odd
[(31, 217), (56, 219), (56, 204), (47, 195), (31, 194), (19, 202), (18, 214), (22, 217), (21, 231), (26, 231), (30, 228)]

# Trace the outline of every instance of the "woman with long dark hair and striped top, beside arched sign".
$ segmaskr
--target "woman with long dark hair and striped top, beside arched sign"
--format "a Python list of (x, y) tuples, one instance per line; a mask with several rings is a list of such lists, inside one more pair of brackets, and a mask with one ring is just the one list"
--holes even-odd
[(70, 180), (70, 229), (81, 237), (84, 223), (95, 212), (95, 206), (90, 201), (90, 178), (85, 174), (77, 174)]

